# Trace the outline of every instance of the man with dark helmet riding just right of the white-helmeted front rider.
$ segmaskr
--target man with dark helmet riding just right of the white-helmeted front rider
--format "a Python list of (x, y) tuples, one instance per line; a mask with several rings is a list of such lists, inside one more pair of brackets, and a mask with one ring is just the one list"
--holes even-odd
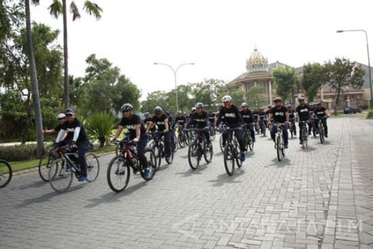
[[(283, 145), (285, 149), (288, 148), (288, 126), (290, 124), (289, 122), (289, 112), (288, 108), (282, 105), (282, 100), (279, 97), (276, 97), (275, 100), (275, 107), (273, 107), (269, 111), (269, 118), (268, 122), (271, 122), (272, 119), (275, 123), (283, 123), (285, 125), (282, 125), (282, 134), (283, 134)], [(277, 127), (275, 125), (272, 125), (271, 129), (271, 138), (276, 143), (275, 137), (276, 137)]]

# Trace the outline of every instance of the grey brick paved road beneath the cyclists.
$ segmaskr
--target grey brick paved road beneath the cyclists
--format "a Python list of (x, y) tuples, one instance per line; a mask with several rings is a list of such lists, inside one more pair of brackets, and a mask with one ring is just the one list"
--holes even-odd
[(37, 172), (16, 176), (0, 190), (0, 248), (370, 248), (373, 122), (329, 127), (326, 144), (291, 140), (283, 162), (258, 137), (232, 177), (217, 141), (211, 164), (192, 171), (182, 149), (119, 194), (106, 183), (112, 155), (100, 158), (96, 182), (74, 180), (63, 194)]

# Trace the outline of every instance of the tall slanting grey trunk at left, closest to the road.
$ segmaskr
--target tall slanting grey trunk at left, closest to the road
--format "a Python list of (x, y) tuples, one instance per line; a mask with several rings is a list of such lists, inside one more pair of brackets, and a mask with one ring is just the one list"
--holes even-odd
[(35, 108), (35, 128), (37, 138), (37, 158), (41, 158), (44, 152), (43, 143), (43, 120), (41, 118), (41, 108), (39, 100), (38, 79), (36, 77), (36, 65), (34, 57), (34, 48), (32, 46), (32, 33), (31, 33), (31, 17), (30, 17), (30, 1), (26, 0), (26, 29), (27, 29), (27, 45), (28, 56), (30, 62), (30, 76), (32, 85), (32, 99)]

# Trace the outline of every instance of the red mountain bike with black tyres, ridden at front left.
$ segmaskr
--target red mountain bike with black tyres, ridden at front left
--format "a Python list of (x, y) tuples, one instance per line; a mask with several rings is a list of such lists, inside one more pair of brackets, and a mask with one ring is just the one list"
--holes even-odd
[[(145, 177), (145, 169), (142, 168), (137, 151), (134, 149), (134, 142), (129, 141), (129, 137), (123, 140), (123, 148), (120, 149), (120, 154), (115, 156), (107, 166), (106, 179), (109, 187), (114, 192), (123, 191), (129, 182), (130, 167), (134, 174), (140, 172), (141, 177), (149, 181), (153, 179), (157, 165), (157, 158), (151, 149), (145, 149), (144, 156), (147, 158), (148, 166), (154, 170), (150, 177)], [(119, 142), (114, 142), (119, 144)]]

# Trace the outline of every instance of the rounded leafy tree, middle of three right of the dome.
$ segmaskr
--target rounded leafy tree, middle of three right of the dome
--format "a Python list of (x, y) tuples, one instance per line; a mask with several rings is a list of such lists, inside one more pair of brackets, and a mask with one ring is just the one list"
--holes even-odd
[(308, 101), (312, 102), (320, 87), (325, 83), (324, 67), (319, 63), (306, 64), (303, 66), (301, 84), (305, 90)]

